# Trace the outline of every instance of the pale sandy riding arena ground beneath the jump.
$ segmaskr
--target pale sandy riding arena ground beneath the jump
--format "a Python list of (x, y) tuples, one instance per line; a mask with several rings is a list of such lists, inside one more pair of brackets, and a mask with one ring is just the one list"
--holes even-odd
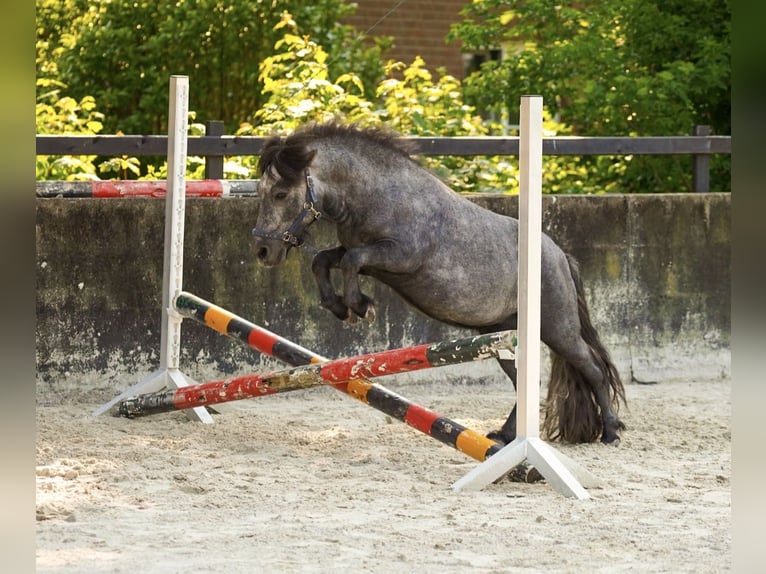
[[(385, 384), (481, 432), (513, 399)], [(476, 461), (329, 388), (213, 425), (39, 406), (37, 571), (730, 571), (730, 391), (629, 385), (619, 447), (555, 445), (604, 482), (582, 501), (507, 479), (455, 493)]]

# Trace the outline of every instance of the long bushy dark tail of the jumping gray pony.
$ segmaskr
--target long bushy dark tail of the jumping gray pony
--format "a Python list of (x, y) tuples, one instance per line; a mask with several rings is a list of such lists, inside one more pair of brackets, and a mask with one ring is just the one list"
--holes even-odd
[[(625, 389), (609, 352), (591, 323), (577, 261), (570, 255), (567, 255), (567, 261), (577, 292), (581, 335), (601, 371), (602, 384), (607, 387), (608, 395), (606, 396), (608, 396), (612, 414), (616, 415), (620, 402), (627, 404)], [(568, 363), (558, 353), (551, 352), (551, 376), (548, 382), (548, 397), (545, 401), (543, 434), (550, 440), (571, 443), (597, 440), (604, 431), (598, 390), (592, 387), (579, 369)], [(603, 395), (603, 389), (600, 390)], [(619, 421), (615, 424), (617, 428), (625, 428)]]

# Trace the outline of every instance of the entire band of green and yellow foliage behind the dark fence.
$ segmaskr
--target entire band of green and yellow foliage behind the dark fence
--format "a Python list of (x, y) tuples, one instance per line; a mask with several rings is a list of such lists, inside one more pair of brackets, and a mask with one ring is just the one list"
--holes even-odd
[[(516, 135), (528, 93), (544, 97), (547, 136), (687, 134), (699, 123), (730, 130), (729, 11), (720, 0), (590, 0), (576, 8), (474, 0), (452, 38), (469, 49), (502, 46), (506, 57), (462, 84), (420, 58), (383, 62), (385, 40), (364, 48), (360, 34), (338, 24), (350, 9), (342, 0), (37, 4), (38, 133), (164, 133), (171, 73), (191, 78), (191, 135), (204, 133), (196, 114), (224, 118), (238, 135), (284, 134), (335, 117), (407, 135)], [(458, 191), (518, 191), (516, 158), (421, 159)], [(95, 161), (38, 157), (37, 176), (167, 175), (164, 164), (136, 158)], [(253, 177), (256, 162), (228, 158), (224, 175)], [(714, 191), (728, 190), (729, 165), (713, 158)], [(204, 160), (188, 158), (187, 175), (203, 173)], [(544, 158), (547, 193), (684, 191), (690, 179), (683, 156)]]

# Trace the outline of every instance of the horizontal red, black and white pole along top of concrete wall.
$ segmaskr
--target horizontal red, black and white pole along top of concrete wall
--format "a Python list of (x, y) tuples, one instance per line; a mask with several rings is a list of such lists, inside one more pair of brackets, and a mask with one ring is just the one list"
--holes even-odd
[[(242, 197), (256, 195), (257, 179), (201, 179), (186, 181), (186, 197)], [(35, 195), (42, 198), (92, 197), (164, 198), (168, 186), (165, 180), (104, 180), (104, 181), (38, 181)]]

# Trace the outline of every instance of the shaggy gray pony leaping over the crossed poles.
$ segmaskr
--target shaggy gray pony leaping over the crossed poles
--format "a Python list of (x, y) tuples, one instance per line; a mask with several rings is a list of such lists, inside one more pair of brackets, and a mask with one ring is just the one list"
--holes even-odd
[[(389, 285), (407, 303), (450, 325), (490, 333), (517, 328), (518, 220), (447, 187), (413, 149), (382, 128), (307, 124), (269, 138), (259, 163), (258, 261), (285, 260), (318, 218), (335, 224), (339, 245), (312, 263), (322, 306), (338, 319), (374, 317), (359, 274)], [(330, 273), (342, 274), (336, 293)], [(552, 239), (542, 243), (541, 338), (551, 349), (544, 436), (617, 443), (625, 392), (591, 324), (577, 263)], [(516, 387), (516, 366), (500, 360)], [(516, 436), (516, 405), (497, 431)]]

